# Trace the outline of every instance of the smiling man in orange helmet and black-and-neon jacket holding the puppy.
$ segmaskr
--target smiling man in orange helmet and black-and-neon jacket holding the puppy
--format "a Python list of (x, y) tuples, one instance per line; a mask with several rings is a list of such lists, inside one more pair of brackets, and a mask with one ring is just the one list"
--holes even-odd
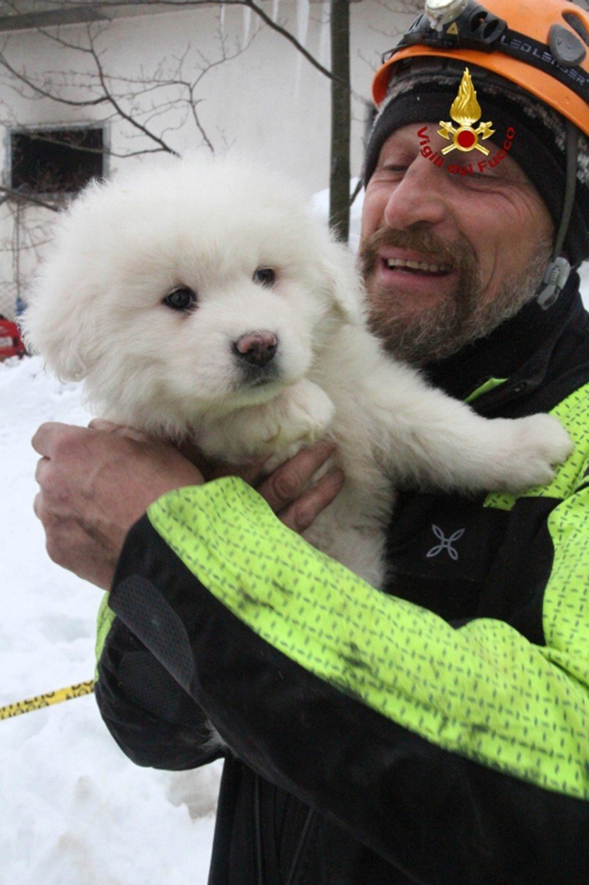
[[(377, 74), (363, 268), (387, 347), (486, 415), (562, 419), (576, 450), (549, 487), (407, 489), (386, 594), (273, 515), (301, 528), (336, 493), (296, 494), (325, 448), (264, 482), (268, 507), (120, 429), (35, 438), (50, 552), (112, 587), (112, 734), (166, 768), (222, 754), (208, 720), (231, 748), (211, 885), (589, 881), (589, 323), (569, 273), (589, 256), (589, 16), (487, 5), (432, 4)], [(484, 124), (456, 119), (465, 63)]]

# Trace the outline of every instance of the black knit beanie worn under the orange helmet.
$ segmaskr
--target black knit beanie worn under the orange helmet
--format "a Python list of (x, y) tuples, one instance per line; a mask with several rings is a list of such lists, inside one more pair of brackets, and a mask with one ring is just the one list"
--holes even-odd
[[(409, 123), (449, 120), (449, 109), (462, 80), (464, 64), (454, 60), (422, 62), (395, 76), (374, 121), (366, 150), (364, 185), (389, 135)], [(547, 205), (555, 227), (561, 219), (566, 177), (565, 122), (562, 116), (516, 84), (469, 65), (483, 120), (493, 123), (493, 143), (501, 146), (515, 130), (509, 156), (516, 160)], [(577, 189), (563, 251), (571, 266), (589, 258), (589, 141), (579, 134)]]

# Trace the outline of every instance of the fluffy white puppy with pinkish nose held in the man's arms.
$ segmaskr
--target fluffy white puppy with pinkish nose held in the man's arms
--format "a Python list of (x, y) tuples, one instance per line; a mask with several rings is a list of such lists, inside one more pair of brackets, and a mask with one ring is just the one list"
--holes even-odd
[(306, 537), (375, 586), (395, 485), (522, 489), (570, 452), (555, 419), (482, 419), (386, 356), (305, 196), (231, 160), (90, 186), (28, 302), (28, 345), (106, 418), (268, 468), (333, 437), (345, 485)]

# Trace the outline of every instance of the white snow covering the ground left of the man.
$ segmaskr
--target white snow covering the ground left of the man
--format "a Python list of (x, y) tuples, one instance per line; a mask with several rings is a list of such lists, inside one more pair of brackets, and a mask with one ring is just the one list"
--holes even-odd
[[(589, 268), (584, 275), (589, 304)], [(42, 421), (86, 424), (39, 358), (0, 364), (0, 706), (94, 673), (101, 594), (50, 562), (34, 518)], [(205, 885), (220, 766), (155, 772), (111, 740), (94, 696), (0, 720), (0, 885)]]

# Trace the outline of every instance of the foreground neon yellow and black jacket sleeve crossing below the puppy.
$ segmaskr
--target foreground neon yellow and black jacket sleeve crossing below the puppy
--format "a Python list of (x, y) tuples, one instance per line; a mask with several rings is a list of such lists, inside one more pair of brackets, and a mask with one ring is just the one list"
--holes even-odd
[(545, 646), (371, 588), (234, 478), (149, 508), (110, 604), (238, 757), (416, 881), (583, 881), (588, 497), (551, 514)]

